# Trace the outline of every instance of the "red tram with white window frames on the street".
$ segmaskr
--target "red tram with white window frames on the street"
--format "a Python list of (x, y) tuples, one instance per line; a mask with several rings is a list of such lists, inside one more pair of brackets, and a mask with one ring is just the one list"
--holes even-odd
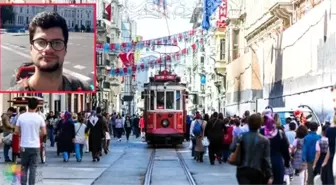
[(186, 132), (186, 84), (164, 70), (144, 84), (144, 121), (148, 144), (182, 144)]

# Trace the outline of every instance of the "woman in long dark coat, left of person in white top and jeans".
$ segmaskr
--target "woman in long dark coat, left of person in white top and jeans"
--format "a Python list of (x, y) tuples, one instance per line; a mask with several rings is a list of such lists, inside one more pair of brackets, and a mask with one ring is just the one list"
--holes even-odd
[(76, 137), (75, 125), (71, 113), (65, 112), (64, 118), (58, 125), (59, 128), (59, 152), (63, 153), (63, 161), (68, 162), (71, 152), (74, 151), (74, 141)]

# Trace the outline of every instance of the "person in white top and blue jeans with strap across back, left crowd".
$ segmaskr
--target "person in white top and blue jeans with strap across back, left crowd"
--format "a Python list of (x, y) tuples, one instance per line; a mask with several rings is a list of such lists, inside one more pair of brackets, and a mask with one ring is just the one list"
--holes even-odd
[(78, 122), (75, 123), (76, 137), (75, 137), (75, 153), (76, 159), (78, 162), (82, 161), (83, 158), (83, 148), (85, 144), (85, 129), (86, 125), (84, 124), (84, 115), (82, 113), (78, 114)]

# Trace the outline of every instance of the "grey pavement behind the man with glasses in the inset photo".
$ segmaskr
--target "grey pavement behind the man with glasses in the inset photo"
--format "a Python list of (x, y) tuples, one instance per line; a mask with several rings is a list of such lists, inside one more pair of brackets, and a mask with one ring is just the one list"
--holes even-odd
[[(27, 33), (3, 33), (1, 37), (1, 90), (10, 87), (14, 70), (31, 59)], [(94, 33), (69, 33), (63, 72), (90, 80), (94, 71)]]

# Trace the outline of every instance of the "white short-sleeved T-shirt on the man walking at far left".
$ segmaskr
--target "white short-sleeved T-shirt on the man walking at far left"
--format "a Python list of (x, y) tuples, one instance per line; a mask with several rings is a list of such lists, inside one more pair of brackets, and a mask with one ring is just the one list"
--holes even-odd
[(43, 118), (35, 112), (26, 112), (19, 116), (16, 126), (20, 127), (20, 146), (40, 148), (40, 129), (45, 127)]

